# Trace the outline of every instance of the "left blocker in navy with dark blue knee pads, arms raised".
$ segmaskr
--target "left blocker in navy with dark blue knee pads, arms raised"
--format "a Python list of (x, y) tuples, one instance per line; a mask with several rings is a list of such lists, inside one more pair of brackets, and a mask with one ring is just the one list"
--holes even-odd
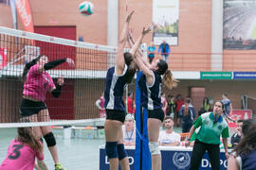
[[(104, 131), (106, 155), (109, 159), (111, 170), (118, 170), (119, 162), (121, 169), (130, 169), (129, 161), (124, 150), (121, 126), (125, 119), (125, 107), (122, 100), (123, 90), (125, 86), (133, 80), (136, 74), (137, 65), (133, 60), (133, 56), (141, 42), (141, 40), (137, 41), (130, 52), (123, 54), (123, 49), (127, 41), (127, 29), (133, 13), (134, 11), (127, 16), (119, 38), (116, 65), (108, 69), (106, 76), (104, 107), (107, 115)], [(144, 35), (149, 31), (149, 28), (144, 29), (141, 39), (143, 39)]]

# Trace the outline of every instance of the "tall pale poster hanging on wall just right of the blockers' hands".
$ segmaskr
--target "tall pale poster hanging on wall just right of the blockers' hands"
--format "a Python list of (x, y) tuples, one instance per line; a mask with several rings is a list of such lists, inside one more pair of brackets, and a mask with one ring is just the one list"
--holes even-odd
[(165, 41), (178, 43), (179, 0), (153, 0), (153, 39), (155, 45)]

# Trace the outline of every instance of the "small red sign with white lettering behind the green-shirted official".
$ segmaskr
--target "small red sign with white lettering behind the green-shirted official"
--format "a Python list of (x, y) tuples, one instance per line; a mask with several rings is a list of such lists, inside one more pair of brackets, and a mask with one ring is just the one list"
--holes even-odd
[[(229, 116), (233, 120), (247, 120), (252, 118), (251, 110), (232, 110), (232, 114)], [(228, 120), (229, 127), (236, 127), (236, 124)]]

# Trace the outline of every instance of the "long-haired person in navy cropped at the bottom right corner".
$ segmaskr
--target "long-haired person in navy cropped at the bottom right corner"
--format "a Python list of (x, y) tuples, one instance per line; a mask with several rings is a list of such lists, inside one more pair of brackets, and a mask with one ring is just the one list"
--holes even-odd
[[(245, 126), (248, 126), (246, 128)], [(248, 120), (242, 127), (246, 133), (229, 157), (228, 170), (256, 169), (256, 122)], [(242, 130), (244, 132), (244, 130)]]

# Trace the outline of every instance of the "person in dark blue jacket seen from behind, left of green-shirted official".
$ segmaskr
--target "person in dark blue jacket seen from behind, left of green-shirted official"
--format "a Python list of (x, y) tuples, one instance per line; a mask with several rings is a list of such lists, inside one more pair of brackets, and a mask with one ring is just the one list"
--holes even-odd
[(182, 133), (190, 132), (195, 117), (195, 110), (190, 98), (185, 99), (185, 104), (181, 107), (178, 114), (182, 120)]

